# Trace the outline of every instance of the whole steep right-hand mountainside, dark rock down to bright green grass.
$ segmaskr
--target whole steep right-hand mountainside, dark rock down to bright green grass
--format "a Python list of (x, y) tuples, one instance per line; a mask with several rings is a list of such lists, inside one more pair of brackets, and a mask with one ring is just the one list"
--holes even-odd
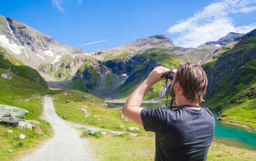
[(256, 37), (252, 33), (216, 61), (202, 65), (209, 81), (202, 105), (220, 111), (224, 121), (256, 128)]

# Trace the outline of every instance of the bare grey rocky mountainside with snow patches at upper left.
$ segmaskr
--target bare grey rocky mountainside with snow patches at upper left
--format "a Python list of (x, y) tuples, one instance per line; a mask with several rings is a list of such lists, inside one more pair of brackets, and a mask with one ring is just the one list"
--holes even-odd
[(59, 44), (26, 24), (1, 15), (0, 45), (16, 59), (34, 69), (40, 64), (54, 64), (65, 55), (74, 57), (85, 53), (82, 49)]

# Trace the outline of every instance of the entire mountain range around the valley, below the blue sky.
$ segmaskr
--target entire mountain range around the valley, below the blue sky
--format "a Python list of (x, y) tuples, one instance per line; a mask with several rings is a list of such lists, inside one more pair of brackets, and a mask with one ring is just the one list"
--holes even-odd
[[(62, 45), (13, 18), (0, 16), (1, 77), (26, 80), (31, 88), (78, 89), (101, 98), (125, 99), (153, 67), (177, 68), (181, 62), (203, 67), (208, 77), (205, 105), (221, 112), (224, 121), (256, 128), (256, 29), (228, 33), (197, 48), (174, 46), (164, 35), (141, 38), (121, 47), (86, 53)], [(8, 81), (4, 81), (8, 82)], [(167, 93), (159, 81), (145, 100)]]

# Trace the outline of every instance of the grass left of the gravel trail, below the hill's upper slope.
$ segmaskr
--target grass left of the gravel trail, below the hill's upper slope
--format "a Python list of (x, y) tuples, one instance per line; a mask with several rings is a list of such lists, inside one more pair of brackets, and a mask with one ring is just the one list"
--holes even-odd
[[(19, 152), (34, 148), (40, 141), (52, 136), (50, 124), (39, 118), (43, 109), (42, 91), (46, 89), (8, 70), (0, 69), (0, 73), (2, 72), (9, 72), (13, 78), (0, 78), (0, 104), (26, 109), (29, 113), (24, 119), (41, 122), (39, 125), (35, 124), (36, 129), (33, 130), (0, 125), (0, 160), (15, 160)], [(13, 130), (13, 133), (8, 133), (8, 129)], [(26, 135), (24, 140), (19, 139), (21, 133)]]

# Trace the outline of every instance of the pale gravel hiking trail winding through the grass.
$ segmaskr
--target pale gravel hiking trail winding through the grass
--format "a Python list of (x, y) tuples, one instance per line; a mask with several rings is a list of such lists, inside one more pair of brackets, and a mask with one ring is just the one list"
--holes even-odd
[(50, 97), (44, 97), (42, 118), (51, 124), (55, 135), (23, 161), (93, 160), (88, 152), (89, 142), (80, 138), (78, 130), (57, 116)]

